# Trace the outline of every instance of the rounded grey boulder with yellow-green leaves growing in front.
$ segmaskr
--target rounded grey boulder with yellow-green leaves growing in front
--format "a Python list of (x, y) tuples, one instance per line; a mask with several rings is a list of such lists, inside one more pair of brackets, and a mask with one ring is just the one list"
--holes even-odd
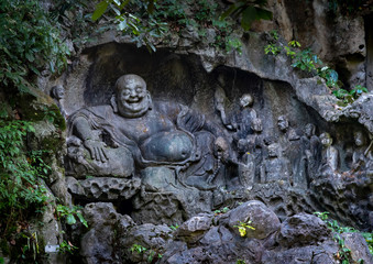
[(278, 231), (281, 226), (277, 216), (257, 200), (246, 201), (229, 212), (228, 227), (238, 235), (240, 233), (234, 226), (249, 221), (255, 230), (246, 229), (246, 237), (254, 239), (265, 239)]

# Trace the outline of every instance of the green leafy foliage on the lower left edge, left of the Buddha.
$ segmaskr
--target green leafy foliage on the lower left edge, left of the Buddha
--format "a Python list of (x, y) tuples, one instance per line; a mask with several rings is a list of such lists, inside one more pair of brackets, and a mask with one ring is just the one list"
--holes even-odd
[(29, 122), (0, 120), (0, 230), (4, 234), (28, 209), (40, 210), (47, 200), (40, 179), (50, 167), (41, 152), (26, 152), (23, 145), (33, 131)]

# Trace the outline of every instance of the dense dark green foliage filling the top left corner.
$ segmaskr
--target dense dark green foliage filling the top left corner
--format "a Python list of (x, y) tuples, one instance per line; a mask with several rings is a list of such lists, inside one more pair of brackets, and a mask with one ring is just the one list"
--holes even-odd
[(58, 72), (69, 54), (36, 0), (0, 2), (0, 84), (22, 92), (32, 86), (32, 76), (47, 68)]

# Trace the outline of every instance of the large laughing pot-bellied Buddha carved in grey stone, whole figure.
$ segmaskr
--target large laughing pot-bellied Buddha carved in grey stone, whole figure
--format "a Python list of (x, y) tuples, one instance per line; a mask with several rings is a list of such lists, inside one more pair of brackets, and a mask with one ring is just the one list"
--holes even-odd
[[(72, 174), (130, 177), (141, 170), (155, 189), (213, 188), (229, 155), (222, 132), (185, 106), (153, 102), (140, 76), (120, 77), (116, 89), (111, 106), (81, 109), (69, 119)], [(157, 173), (165, 168), (172, 172)]]

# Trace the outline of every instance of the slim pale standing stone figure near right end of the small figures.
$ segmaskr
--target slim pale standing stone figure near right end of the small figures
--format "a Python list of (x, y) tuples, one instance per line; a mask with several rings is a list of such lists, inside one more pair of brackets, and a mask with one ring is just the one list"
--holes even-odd
[(325, 132), (320, 134), (320, 141), (322, 144), (321, 173), (333, 173), (338, 169), (339, 165), (338, 150), (331, 145), (333, 140), (329, 133)]

